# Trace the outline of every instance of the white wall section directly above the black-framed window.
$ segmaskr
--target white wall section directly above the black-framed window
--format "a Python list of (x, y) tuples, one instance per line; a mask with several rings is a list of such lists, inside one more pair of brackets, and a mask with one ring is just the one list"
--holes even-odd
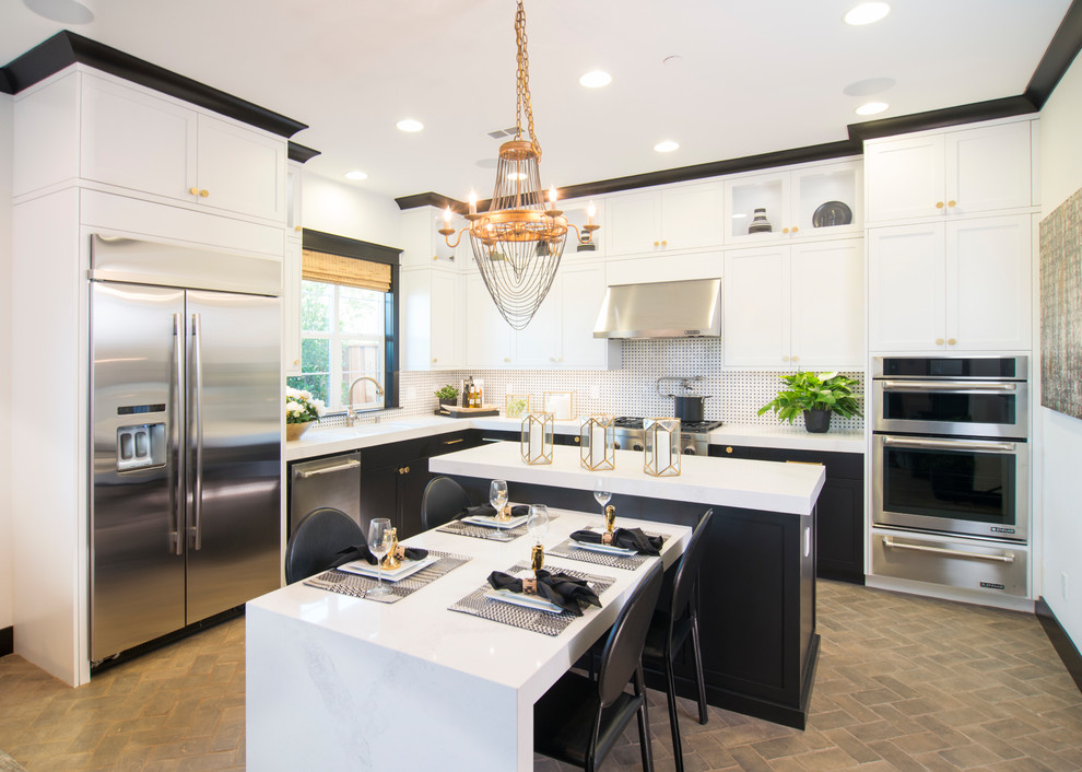
[(395, 199), (354, 185), (304, 174), (304, 226), (363, 242), (401, 247), (401, 212)]

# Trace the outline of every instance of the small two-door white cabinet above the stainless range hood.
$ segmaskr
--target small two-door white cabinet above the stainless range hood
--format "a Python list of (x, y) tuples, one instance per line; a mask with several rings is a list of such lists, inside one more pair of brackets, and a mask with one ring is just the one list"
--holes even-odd
[(721, 184), (681, 185), (605, 199), (605, 255), (721, 244)]

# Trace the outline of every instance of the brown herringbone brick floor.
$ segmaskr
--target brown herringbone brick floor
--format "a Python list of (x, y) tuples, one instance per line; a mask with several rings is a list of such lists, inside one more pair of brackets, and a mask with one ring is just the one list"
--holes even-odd
[[(689, 772), (1082, 770), (1082, 694), (1036, 618), (820, 582), (819, 630), (809, 728), (714, 707), (701, 726), (683, 701)], [(665, 697), (651, 692), (650, 704), (666, 772)], [(604, 772), (638, 769), (636, 737)], [(17, 656), (0, 659), (0, 748), (31, 771), (243, 769), (243, 620), (79, 689)], [(538, 772), (564, 769), (536, 762)]]

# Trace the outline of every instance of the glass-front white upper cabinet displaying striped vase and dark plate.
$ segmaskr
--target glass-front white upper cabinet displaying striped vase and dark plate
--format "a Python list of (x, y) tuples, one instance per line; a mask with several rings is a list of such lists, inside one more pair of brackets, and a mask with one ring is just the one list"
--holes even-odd
[[(860, 233), (861, 179), (859, 161), (730, 178), (725, 184), (726, 243), (824, 239)], [(769, 231), (756, 229), (762, 222), (755, 220), (756, 209), (765, 210)]]

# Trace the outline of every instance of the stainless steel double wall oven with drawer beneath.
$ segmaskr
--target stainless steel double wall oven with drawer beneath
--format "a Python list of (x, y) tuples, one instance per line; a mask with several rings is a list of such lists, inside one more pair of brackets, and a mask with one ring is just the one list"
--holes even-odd
[(880, 356), (872, 572), (1027, 594), (1025, 356)]

